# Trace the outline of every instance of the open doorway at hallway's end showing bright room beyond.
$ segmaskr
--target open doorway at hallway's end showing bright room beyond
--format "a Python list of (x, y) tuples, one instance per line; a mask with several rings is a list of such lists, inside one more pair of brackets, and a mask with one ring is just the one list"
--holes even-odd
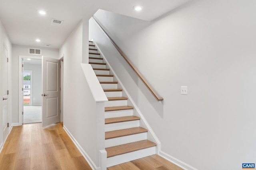
[(42, 59), (23, 59), (23, 124), (42, 122)]

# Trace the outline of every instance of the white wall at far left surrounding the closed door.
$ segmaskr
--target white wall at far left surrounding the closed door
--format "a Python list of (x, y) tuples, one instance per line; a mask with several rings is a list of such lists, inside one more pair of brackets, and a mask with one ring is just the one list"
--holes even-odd
[[(10, 78), (12, 75), (12, 59), (10, 56), (12, 56), (12, 43), (10, 42), (10, 39), (5, 31), (4, 26), (2, 25), (2, 22), (0, 20), (0, 65), (2, 66), (2, 51), (3, 51), (3, 45), (8, 50), (8, 57), (9, 57), (9, 63), (8, 63), (8, 89), (11, 89), (12, 86), (12, 79)], [(2, 75), (2, 70), (0, 69), (0, 75)], [(0, 96), (2, 98), (2, 78), (0, 78)], [(12, 96), (13, 93), (10, 90), (10, 93), (8, 95), (8, 112), (9, 115), (12, 115)], [(2, 100), (1, 100), (2, 101)], [(4, 143), (3, 141), (3, 126), (2, 126), (2, 102), (0, 102), (0, 149)], [(12, 124), (12, 117), (8, 117), (10, 125)], [(9, 128), (10, 129), (10, 128)]]

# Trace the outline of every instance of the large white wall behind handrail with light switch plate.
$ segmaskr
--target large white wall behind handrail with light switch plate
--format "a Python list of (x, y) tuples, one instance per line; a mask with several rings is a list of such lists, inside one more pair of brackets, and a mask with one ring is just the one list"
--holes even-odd
[[(255, 8), (254, 0), (194, 0), (152, 23), (94, 15), (164, 98), (156, 102), (125, 61), (110, 55), (90, 22), (89, 39), (160, 139), (160, 154), (200, 170), (255, 162)], [(188, 86), (187, 96), (180, 86)]]

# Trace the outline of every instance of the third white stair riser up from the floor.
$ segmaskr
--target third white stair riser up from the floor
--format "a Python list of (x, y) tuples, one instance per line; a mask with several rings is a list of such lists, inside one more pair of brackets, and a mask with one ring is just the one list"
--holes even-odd
[(139, 127), (139, 126), (140, 126), (139, 120), (126, 121), (126, 122), (120, 122), (120, 123), (110, 123), (105, 125), (105, 132), (116, 131), (120, 129), (128, 129), (128, 128)]

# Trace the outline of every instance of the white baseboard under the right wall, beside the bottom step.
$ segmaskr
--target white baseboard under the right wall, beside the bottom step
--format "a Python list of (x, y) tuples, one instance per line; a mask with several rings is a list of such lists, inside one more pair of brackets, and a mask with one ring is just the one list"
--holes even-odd
[(179, 166), (180, 168), (182, 168), (184, 170), (198, 170), (198, 169), (194, 168), (193, 166), (190, 166), (190, 165), (186, 164), (185, 162), (182, 162), (181, 160), (178, 160), (177, 158), (170, 156), (169, 154), (163, 152), (162, 150), (160, 150), (159, 156), (172, 162), (173, 164)]

